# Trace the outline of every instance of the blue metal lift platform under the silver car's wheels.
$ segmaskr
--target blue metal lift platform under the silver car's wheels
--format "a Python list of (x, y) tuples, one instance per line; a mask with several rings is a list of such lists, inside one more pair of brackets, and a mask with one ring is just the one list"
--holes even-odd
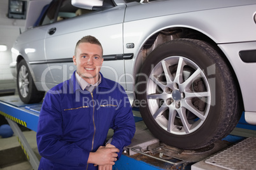
[[(41, 105), (42, 103), (26, 105), (20, 101), (18, 96), (0, 97), (0, 114), (6, 117), (33, 169), (38, 169), (39, 160), (17, 124), (37, 131)], [(255, 137), (245, 138), (229, 135), (210, 147), (199, 150), (182, 150), (161, 143), (148, 131), (140, 117), (134, 116), (134, 120), (136, 121), (134, 138), (131, 145), (124, 148), (122, 157), (113, 166), (114, 170), (256, 169)]]

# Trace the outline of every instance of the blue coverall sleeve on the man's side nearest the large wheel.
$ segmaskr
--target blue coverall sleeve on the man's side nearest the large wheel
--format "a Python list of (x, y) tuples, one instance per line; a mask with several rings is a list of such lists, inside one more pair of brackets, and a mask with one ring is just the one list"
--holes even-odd
[(111, 124), (111, 129), (114, 130), (111, 145), (114, 145), (120, 150), (118, 158), (122, 155), (123, 148), (131, 144), (136, 130), (128, 96), (124, 93), (121, 93), (120, 96), (118, 109)]

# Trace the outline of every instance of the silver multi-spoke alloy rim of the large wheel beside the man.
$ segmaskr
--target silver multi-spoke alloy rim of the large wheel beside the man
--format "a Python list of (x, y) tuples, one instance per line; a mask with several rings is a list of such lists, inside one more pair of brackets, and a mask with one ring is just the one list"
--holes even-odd
[(206, 121), (211, 105), (210, 84), (192, 60), (169, 56), (153, 67), (146, 98), (153, 119), (162, 129), (177, 135), (190, 134)]

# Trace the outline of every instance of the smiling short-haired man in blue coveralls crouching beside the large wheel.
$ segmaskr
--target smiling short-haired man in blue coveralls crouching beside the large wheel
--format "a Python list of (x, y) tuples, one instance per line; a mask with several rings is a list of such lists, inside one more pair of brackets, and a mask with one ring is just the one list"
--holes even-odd
[[(135, 123), (124, 89), (99, 72), (103, 48), (92, 36), (77, 42), (76, 71), (48, 93), (39, 114), (39, 169), (112, 169), (131, 143)], [(113, 137), (105, 146), (108, 129)]]

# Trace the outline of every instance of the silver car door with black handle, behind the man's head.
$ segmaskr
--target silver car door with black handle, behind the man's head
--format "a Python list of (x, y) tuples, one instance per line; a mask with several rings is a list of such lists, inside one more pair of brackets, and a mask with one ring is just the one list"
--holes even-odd
[[(70, 10), (62, 10), (67, 8)], [(104, 62), (101, 72), (104, 77), (120, 82), (125, 88), (124, 60), (118, 60), (120, 58), (117, 57), (123, 54), (122, 22), (125, 6), (103, 11), (80, 9), (85, 14), (76, 16), (78, 10), (71, 6), (70, 1), (62, 2), (57, 21), (48, 26), (45, 53), (54, 82), (63, 82), (71, 77), (76, 70), (72, 62), (76, 42), (83, 36), (90, 35), (99, 39), (103, 46)]]

